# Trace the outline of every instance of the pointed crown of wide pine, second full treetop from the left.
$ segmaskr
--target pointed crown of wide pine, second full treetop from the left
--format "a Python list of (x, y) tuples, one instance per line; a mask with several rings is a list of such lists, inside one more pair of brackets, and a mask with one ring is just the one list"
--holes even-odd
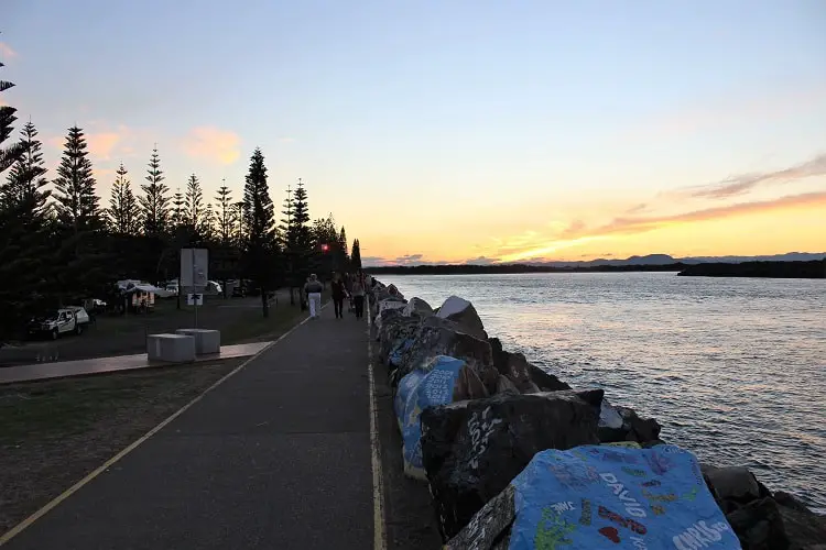
[(83, 130), (77, 125), (69, 128), (54, 180), (57, 219), (74, 234), (95, 231), (102, 226), (87, 148)]

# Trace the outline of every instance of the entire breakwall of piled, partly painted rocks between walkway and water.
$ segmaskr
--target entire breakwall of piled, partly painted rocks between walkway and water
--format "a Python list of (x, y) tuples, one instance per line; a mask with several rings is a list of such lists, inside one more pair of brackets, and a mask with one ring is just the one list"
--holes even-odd
[(404, 472), (430, 485), (445, 548), (826, 549), (826, 518), (503, 350), (469, 301), (369, 297)]

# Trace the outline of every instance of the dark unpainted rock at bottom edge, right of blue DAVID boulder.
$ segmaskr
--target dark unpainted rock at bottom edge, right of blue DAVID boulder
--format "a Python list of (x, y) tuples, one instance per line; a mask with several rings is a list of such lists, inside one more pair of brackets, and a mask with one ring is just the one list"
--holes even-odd
[(786, 550), (790, 540), (783, 527), (783, 516), (770, 497), (751, 503), (726, 514), (743, 550)]

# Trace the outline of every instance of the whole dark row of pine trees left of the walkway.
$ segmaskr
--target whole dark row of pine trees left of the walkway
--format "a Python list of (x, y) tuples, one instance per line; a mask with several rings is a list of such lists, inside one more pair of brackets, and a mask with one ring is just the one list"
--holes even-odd
[[(12, 86), (0, 80), (0, 92)], [(260, 148), (241, 196), (225, 182), (210, 200), (196, 174), (172, 193), (155, 148), (143, 182), (133, 186), (121, 164), (101, 204), (83, 130), (68, 130), (48, 174), (35, 125), (13, 139), (15, 112), (0, 102), (0, 344), (34, 314), (98, 297), (116, 280), (177, 278), (182, 248), (209, 250), (210, 279), (253, 280), (264, 317), (268, 292), (300, 287), (311, 271), (361, 267), (358, 240), (349, 254), (333, 215), (311, 221), (301, 180), (276, 220)]]

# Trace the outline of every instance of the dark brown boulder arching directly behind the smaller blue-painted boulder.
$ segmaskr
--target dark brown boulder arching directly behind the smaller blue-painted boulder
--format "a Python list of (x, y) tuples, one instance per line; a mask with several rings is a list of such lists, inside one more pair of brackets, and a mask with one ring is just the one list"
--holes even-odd
[(402, 355), (401, 364), (391, 382), (398, 384), (398, 381), (430, 358), (448, 355), (466, 361), (482, 380), (488, 393), (494, 393), (498, 375), (493, 367), (490, 344), (487, 340), (479, 340), (460, 332), (459, 329), (455, 322), (446, 319), (435, 316), (425, 318), (419, 327), (413, 343)]

